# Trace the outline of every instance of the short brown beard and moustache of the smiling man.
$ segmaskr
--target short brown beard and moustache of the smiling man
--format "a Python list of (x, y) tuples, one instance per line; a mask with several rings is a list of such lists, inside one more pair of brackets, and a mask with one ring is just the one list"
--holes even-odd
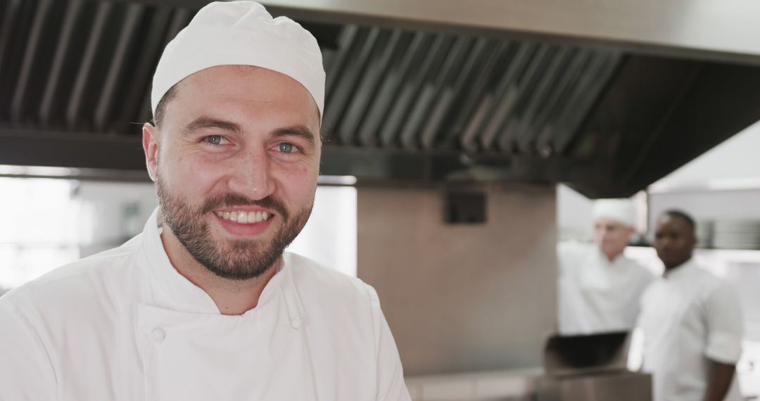
[[(274, 197), (252, 200), (240, 194), (223, 194), (208, 198), (200, 210), (193, 210), (181, 197), (169, 193), (160, 176), (156, 178), (156, 193), (164, 223), (188, 253), (214, 275), (236, 281), (261, 276), (271, 269), (306, 225), (313, 206), (310, 204), (291, 219), (283, 202)], [(221, 207), (243, 205), (274, 210), (283, 220), (269, 244), (258, 239), (223, 241), (213, 238), (204, 216)]]

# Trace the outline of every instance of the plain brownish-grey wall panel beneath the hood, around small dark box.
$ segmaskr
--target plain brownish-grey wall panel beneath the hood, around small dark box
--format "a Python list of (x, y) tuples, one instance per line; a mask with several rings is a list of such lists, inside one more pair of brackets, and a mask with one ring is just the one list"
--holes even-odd
[(555, 188), (486, 193), (486, 223), (448, 225), (442, 191), (359, 187), (357, 275), (377, 289), (407, 375), (541, 365)]

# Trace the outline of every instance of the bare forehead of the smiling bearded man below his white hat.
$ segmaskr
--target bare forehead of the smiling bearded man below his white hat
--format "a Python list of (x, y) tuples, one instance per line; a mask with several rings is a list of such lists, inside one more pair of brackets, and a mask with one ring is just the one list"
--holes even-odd
[(237, 115), (305, 125), (317, 134), (320, 116), (311, 93), (298, 81), (267, 68), (219, 65), (176, 86), (166, 115)]

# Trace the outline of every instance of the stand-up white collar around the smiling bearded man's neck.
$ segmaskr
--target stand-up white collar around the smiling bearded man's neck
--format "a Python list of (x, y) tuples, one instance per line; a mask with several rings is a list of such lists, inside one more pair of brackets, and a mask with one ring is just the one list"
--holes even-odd
[[(170, 307), (177, 311), (220, 314), (219, 308), (217, 308), (211, 296), (200, 287), (191, 283), (185, 276), (179, 274), (169, 261), (169, 256), (163, 248), (163, 242), (161, 242), (160, 233), (162, 227), (158, 223), (159, 213), (160, 209), (157, 207), (153, 214), (150, 215), (143, 229), (143, 248), (148, 270), (150, 270), (150, 275), (163, 291), (163, 293), (157, 294), (156, 297), (168, 298)], [(245, 314), (249, 314), (249, 312), (256, 311), (259, 308), (264, 308), (277, 295), (277, 290), (283, 286), (283, 281), (292, 281), (290, 269), (286, 267), (287, 259), (287, 257), (283, 258), (284, 263), (282, 267), (269, 280), (267, 286), (264, 287), (264, 291), (261, 292), (261, 296), (258, 299), (258, 305), (246, 311)]]

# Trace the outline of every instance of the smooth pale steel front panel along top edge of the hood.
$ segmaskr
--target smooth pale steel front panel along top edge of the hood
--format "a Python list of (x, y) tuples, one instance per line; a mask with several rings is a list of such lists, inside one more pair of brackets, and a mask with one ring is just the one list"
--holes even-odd
[(584, 0), (473, 0), (466, 4), (437, 0), (267, 0), (266, 4), (296, 16), (330, 21), (385, 21), (403, 27), (448, 27), (470, 33), (564, 36), (635, 49), (678, 50), (682, 55), (760, 62), (760, 43), (755, 39), (760, 3), (752, 0), (611, 0), (603, 6)]

